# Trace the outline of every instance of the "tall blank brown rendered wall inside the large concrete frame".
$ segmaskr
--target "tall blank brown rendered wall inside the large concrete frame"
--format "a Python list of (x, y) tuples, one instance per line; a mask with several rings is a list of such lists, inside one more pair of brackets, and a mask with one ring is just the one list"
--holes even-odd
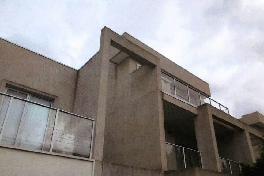
[(162, 170), (157, 72), (131, 63), (110, 64), (103, 160)]

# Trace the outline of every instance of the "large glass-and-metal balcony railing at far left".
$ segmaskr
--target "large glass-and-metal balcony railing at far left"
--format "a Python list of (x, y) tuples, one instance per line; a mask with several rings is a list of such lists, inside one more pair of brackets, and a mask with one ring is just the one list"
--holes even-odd
[(0, 92), (0, 144), (91, 158), (95, 120)]

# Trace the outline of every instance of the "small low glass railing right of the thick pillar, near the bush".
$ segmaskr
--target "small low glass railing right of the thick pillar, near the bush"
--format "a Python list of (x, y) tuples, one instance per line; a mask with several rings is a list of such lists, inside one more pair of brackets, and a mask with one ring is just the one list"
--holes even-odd
[(219, 159), (220, 159), (222, 172), (239, 176), (240, 165), (238, 162), (232, 161), (230, 159), (221, 158), (221, 157), (219, 157)]

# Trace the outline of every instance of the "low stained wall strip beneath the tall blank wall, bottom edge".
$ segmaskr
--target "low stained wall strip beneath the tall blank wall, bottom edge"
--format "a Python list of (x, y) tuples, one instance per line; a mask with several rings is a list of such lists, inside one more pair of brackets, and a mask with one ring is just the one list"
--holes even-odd
[(163, 176), (161, 170), (150, 170), (103, 162), (102, 176)]

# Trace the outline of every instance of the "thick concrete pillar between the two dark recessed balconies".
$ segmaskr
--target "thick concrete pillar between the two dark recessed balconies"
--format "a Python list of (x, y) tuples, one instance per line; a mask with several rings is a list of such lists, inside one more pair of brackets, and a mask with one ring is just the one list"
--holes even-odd
[(213, 117), (208, 106), (208, 104), (199, 106), (198, 115), (194, 119), (197, 147), (202, 155), (203, 168), (221, 172)]

